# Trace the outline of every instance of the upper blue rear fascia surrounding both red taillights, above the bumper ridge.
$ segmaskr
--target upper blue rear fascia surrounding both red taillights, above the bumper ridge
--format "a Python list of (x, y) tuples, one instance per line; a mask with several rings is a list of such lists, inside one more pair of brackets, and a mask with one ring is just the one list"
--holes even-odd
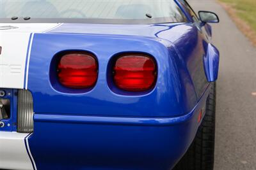
[[(74, 92), (54, 80), (52, 59), (58, 53), (70, 50), (83, 50), (97, 57), (99, 78), (93, 89)], [(111, 73), (109, 62), (125, 52), (148, 53), (156, 59), (158, 71), (154, 89), (143, 93), (116, 89), (108, 75)], [(35, 113), (173, 117), (188, 113), (196, 104), (195, 90), (184, 59), (172, 43), (160, 38), (35, 34), (29, 65), (28, 89), (33, 94)]]

